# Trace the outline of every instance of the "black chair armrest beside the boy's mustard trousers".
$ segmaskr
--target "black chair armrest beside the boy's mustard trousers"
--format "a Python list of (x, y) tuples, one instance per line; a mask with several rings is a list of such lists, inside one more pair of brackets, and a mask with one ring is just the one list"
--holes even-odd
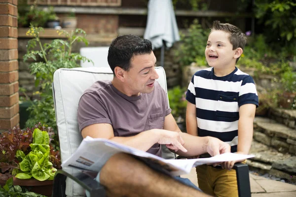
[(233, 165), (236, 171), (237, 189), (239, 197), (251, 197), (249, 166), (247, 164), (236, 163)]

